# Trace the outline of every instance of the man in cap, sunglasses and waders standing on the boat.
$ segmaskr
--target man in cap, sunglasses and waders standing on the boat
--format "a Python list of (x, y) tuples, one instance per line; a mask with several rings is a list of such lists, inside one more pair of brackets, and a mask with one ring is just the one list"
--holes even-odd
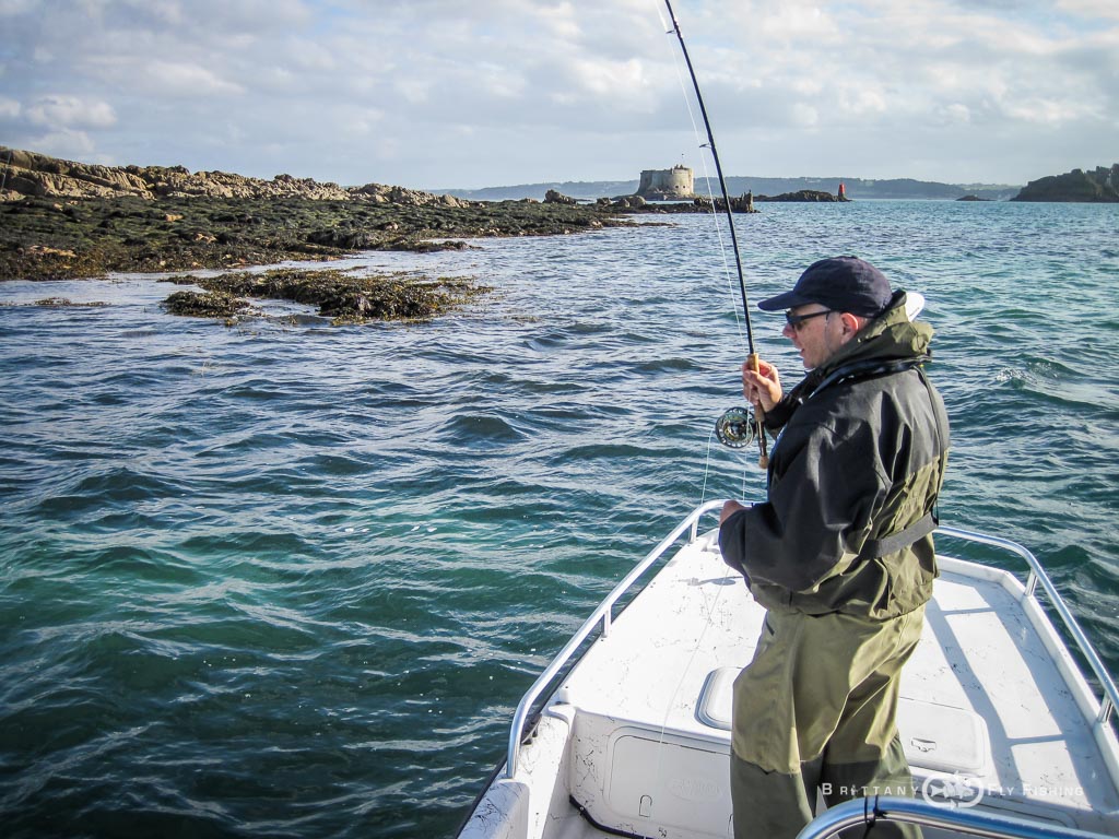
[(734, 685), (736, 839), (792, 839), (818, 792), (828, 805), (912, 794), (897, 688), (937, 576), (948, 420), (921, 369), (932, 329), (905, 302), (876, 267), (840, 256), (759, 304), (786, 310), (808, 375), (784, 394), (772, 365), (743, 366), (745, 397), (779, 436), (768, 500), (728, 501), (720, 519), (724, 559), (768, 610)]

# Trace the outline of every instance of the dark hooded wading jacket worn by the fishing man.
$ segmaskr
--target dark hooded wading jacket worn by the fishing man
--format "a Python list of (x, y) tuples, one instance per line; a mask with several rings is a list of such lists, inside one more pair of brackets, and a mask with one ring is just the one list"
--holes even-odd
[(932, 536), (912, 537), (932, 527), (948, 418), (920, 369), (932, 329), (903, 302), (896, 293), (767, 417), (783, 424), (769, 499), (727, 518), (720, 546), (768, 609), (885, 620), (932, 595)]

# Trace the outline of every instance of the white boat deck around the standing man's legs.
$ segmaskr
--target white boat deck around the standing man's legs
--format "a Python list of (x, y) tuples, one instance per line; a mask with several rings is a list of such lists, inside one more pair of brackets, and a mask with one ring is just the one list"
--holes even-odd
[[(901, 689), (916, 785), (934, 800), (1117, 836), (1115, 735), (1093, 725), (1098, 705), (1063, 644), (1036, 603), (1021, 601), (1012, 575), (942, 558)], [(715, 534), (677, 553), (591, 645), (523, 750), (518, 777), (544, 783), (551, 808), (536, 791), (521, 835), (610, 835), (593, 820), (665, 839), (728, 836), (731, 682), (763, 614)]]

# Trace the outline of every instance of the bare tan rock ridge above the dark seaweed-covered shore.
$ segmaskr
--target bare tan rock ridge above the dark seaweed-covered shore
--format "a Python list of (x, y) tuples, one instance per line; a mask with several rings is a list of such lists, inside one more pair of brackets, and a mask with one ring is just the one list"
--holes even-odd
[(303, 198), (312, 201), (366, 200), (374, 204), (462, 207), (452, 196), (366, 183), (344, 188), (311, 178), (278, 175), (272, 180), (229, 172), (191, 172), (181, 166), (109, 167), (77, 163), (0, 147), (0, 200), (34, 198)]

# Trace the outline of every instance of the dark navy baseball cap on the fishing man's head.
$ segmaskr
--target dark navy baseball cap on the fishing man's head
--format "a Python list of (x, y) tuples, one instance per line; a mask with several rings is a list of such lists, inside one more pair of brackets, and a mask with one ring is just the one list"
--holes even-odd
[(835, 312), (862, 317), (878, 314), (893, 292), (886, 275), (857, 256), (833, 256), (809, 265), (792, 291), (763, 300), (758, 308), (779, 312), (807, 303), (819, 303)]

